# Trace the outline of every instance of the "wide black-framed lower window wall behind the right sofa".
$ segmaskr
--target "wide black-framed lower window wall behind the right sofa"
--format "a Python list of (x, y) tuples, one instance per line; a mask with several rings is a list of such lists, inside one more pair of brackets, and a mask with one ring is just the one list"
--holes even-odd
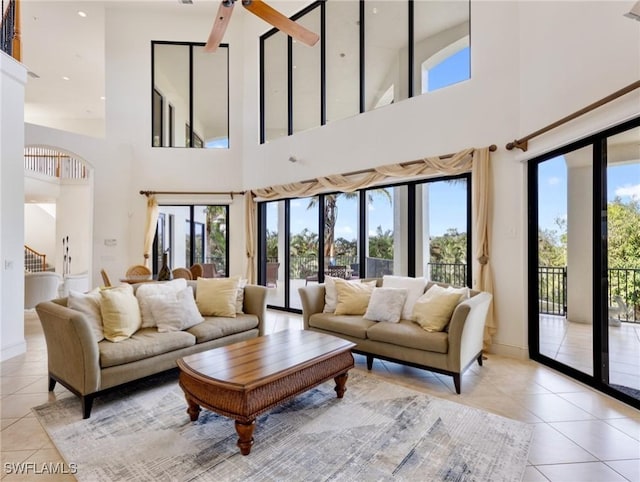
[(264, 202), (259, 282), (274, 308), (300, 310), (298, 288), (384, 275), (470, 284), (471, 175)]

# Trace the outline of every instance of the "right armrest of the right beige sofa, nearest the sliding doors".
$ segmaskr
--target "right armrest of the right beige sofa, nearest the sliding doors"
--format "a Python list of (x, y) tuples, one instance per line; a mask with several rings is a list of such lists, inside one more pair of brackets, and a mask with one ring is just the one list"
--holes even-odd
[(461, 371), (482, 351), (484, 325), (492, 296), (480, 292), (460, 303), (449, 323), (449, 369)]

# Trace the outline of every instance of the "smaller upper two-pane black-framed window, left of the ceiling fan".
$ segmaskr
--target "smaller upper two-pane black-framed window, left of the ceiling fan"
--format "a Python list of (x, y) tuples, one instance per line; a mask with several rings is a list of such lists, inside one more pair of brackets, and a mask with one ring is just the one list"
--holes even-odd
[(203, 47), (151, 42), (152, 146), (229, 148), (229, 48)]

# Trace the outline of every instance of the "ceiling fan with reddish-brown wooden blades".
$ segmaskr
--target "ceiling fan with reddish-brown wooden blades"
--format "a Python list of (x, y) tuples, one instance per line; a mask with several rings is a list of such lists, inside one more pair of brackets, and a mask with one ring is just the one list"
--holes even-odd
[[(308, 45), (309, 47), (315, 45), (320, 38), (311, 30), (307, 30), (302, 25), (294, 22), (290, 18), (285, 17), (283, 14), (278, 12), (273, 7), (270, 7), (262, 0), (241, 1), (242, 6), (249, 10), (251, 13), (257, 15), (264, 21), (273, 25), (278, 30), (286, 33), (287, 35), (302, 42), (303, 44)], [(224, 36), (224, 32), (225, 30), (227, 30), (227, 25), (229, 24), (229, 19), (231, 18), (231, 13), (233, 12), (235, 3), (236, 0), (222, 0), (222, 2), (220, 3), (216, 19), (213, 22), (213, 28), (211, 29), (211, 33), (209, 34), (209, 39), (207, 40), (207, 44), (204, 47), (205, 52), (215, 52), (218, 48), (218, 45), (220, 45), (220, 41)]]

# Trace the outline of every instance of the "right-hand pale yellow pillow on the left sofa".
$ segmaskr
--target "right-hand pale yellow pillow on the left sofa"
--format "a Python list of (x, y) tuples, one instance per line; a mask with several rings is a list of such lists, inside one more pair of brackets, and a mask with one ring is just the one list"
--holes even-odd
[(240, 277), (198, 278), (196, 304), (203, 316), (236, 317)]

